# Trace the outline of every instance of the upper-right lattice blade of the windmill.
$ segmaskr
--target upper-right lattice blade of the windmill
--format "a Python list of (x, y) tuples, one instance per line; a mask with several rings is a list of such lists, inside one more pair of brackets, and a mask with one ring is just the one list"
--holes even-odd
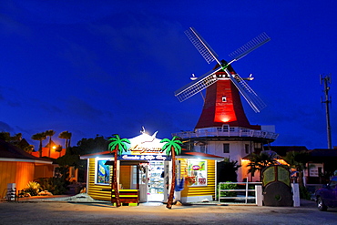
[(230, 53), (229, 56), (233, 58), (233, 60), (230, 63), (232, 63), (233, 61), (238, 61), (240, 58), (247, 56), (248, 54), (250, 54), (250, 52), (254, 51), (256, 48), (260, 46), (263, 46), (270, 40), (271, 40), (271, 37), (267, 36), (266, 33), (260, 34), (260, 36), (255, 37), (250, 42), (248, 42), (246, 45), (241, 46), (234, 52)]

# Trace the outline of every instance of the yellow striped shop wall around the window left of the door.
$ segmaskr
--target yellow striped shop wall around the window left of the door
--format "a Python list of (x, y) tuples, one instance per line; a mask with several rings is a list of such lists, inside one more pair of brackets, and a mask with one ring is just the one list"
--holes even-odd
[[(101, 185), (95, 184), (95, 159), (88, 159), (88, 187), (87, 187), (87, 194), (91, 196), (93, 199), (99, 200), (111, 200), (111, 191), (102, 191), (102, 189), (110, 189), (111, 185)], [(110, 167), (110, 180), (112, 178), (112, 167)]]

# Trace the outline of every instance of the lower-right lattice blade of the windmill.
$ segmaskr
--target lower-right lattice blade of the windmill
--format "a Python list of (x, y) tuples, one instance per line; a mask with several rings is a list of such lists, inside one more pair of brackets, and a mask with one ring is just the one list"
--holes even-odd
[(260, 97), (251, 89), (251, 87), (240, 77), (238, 74), (231, 74), (230, 71), (226, 68), (226, 73), (230, 75), (230, 80), (233, 82), (235, 87), (237, 87), (241, 95), (246, 99), (250, 107), (254, 112), (258, 113), (260, 110), (267, 105), (260, 99)]

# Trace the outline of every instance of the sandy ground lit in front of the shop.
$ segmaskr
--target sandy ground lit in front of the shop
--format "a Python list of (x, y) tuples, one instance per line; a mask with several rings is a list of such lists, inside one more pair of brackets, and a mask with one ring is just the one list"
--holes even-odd
[(105, 201), (66, 198), (0, 202), (0, 224), (337, 224), (337, 210), (316, 210), (313, 201), (301, 207), (191, 205), (166, 209), (161, 203), (138, 207), (111, 206)]

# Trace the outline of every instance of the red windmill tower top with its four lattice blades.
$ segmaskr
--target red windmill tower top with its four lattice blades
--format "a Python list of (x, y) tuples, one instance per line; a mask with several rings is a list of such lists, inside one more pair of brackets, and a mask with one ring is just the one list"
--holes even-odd
[[(240, 77), (239, 74), (234, 71), (231, 64), (264, 45), (270, 41), (271, 38), (265, 33), (260, 34), (260, 36), (255, 37), (246, 45), (241, 46), (231, 53), (230, 56), (233, 59), (227, 62), (220, 60), (219, 56), (199, 35), (196, 29), (189, 27), (189, 30), (185, 31), (185, 34), (189, 37), (189, 40), (197, 48), (201, 56), (205, 58), (207, 63), (217, 62), (217, 66), (212, 70), (198, 78), (193, 76), (191, 83), (175, 91), (175, 96), (182, 102), (207, 88), (203, 112), (196, 128), (217, 127), (212, 125), (220, 125), (230, 120), (239, 121), (234, 124), (237, 126), (250, 126), (243, 112), (243, 107), (241, 106), (239, 92), (256, 113), (260, 112), (266, 105), (245, 81), (245, 79), (251, 80), (253, 77), (250, 76), (245, 79)], [(226, 94), (220, 93), (220, 89), (226, 89)], [(225, 114), (227, 114), (227, 116)], [(234, 116), (229, 118), (230, 114)]]

